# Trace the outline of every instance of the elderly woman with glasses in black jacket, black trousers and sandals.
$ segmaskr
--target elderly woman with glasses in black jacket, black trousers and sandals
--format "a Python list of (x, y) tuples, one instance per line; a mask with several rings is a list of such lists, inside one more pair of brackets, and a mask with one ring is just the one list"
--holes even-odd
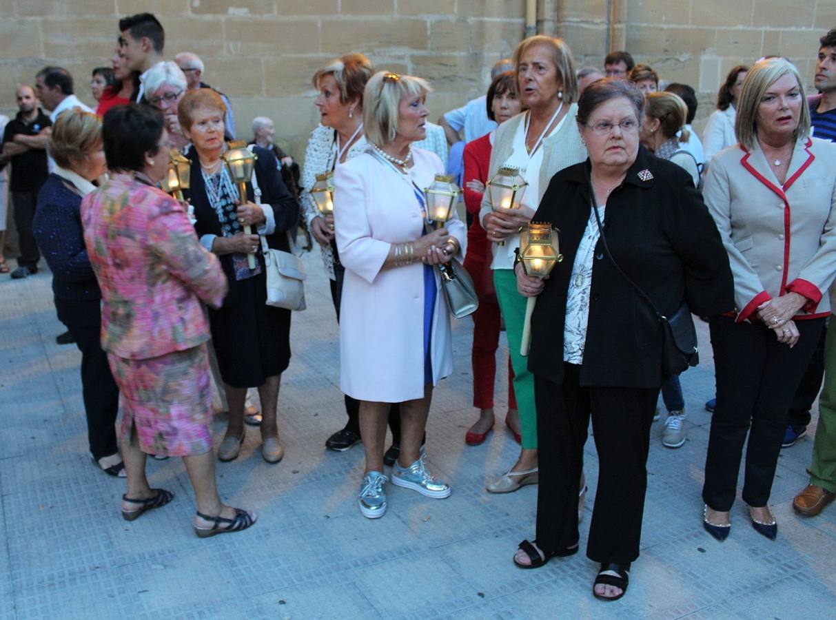
[(535, 568), (578, 551), (591, 414), (599, 480), (587, 556), (601, 563), (594, 595), (609, 600), (624, 595), (639, 556), (650, 424), (664, 379), (660, 323), (615, 264), (667, 317), (684, 301), (701, 316), (734, 306), (726, 252), (691, 177), (640, 147), (644, 104), (626, 82), (599, 80), (584, 91), (577, 121), (589, 160), (553, 177), (533, 218), (559, 229), (563, 262), (546, 281), (515, 267), (519, 291), (539, 297), (528, 368), (541, 450), (537, 539), (523, 541), (514, 562)]

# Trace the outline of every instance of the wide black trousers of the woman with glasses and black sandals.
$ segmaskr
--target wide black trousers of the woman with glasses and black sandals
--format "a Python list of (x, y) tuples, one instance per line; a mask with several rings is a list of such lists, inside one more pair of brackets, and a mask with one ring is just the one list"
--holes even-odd
[(633, 562), (639, 557), (650, 424), (659, 389), (582, 387), (580, 366), (563, 367), (563, 385), (534, 377), (540, 446), (537, 544), (548, 552), (579, 541), (579, 480), (591, 414), (599, 474), (586, 555), (594, 562)]

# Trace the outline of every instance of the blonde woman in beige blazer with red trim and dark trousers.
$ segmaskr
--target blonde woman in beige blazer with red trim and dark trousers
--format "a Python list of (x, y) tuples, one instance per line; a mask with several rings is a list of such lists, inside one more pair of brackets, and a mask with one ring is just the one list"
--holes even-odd
[(774, 539), (767, 502), (787, 412), (836, 276), (836, 145), (808, 138), (801, 78), (782, 58), (748, 72), (736, 130), (740, 144), (716, 155), (704, 189), (729, 255), (737, 308), (711, 318), (717, 404), (703, 521), (718, 540), (728, 536), (748, 431), (742, 497), (755, 529)]

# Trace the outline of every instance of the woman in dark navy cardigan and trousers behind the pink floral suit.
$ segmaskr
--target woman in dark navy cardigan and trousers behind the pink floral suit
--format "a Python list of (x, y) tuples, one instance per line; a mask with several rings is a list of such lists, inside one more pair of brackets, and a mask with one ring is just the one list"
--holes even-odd
[(48, 142), (55, 168), (38, 194), (33, 232), (53, 272), (55, 310), (81, 351), (81, 391), (90, 456), (105, 474), (125, 477), (116, 444), (119, 388), (99, 342), (99, 284), (84, 247), (81, 199), (104, 174), (102, 124), (79, 108), (61, 114)]

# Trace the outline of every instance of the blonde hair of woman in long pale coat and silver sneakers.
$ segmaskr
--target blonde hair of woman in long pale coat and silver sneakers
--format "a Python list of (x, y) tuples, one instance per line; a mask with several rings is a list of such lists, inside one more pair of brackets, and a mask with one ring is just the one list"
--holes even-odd
[(366, 140), (383, 147), (398, 135), (398, 106), (405, 97), (423, 97), (432, 88), (426, 79), (379, 71), (363, 94), (363, 126)]

